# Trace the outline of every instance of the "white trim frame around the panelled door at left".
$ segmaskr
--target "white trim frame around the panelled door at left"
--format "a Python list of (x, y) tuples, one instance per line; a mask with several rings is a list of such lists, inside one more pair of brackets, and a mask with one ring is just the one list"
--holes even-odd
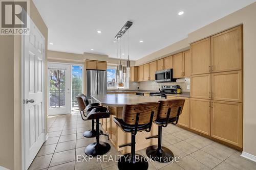
[[(40, 30), (36, 27), (35, 23), (33, 22), (33, 20), (29, 17), (30, 19), (30, 22), (33, 23), (33, 25), (35, 26), (35, 28), (37, 29), (37, 31), (39, 32), (39, 34), (44, 37), (44, 52), (43, 52), (43, 55), (42, 55), (42, 64), (43, 64), (43, 68), (44, 68), (44, 71), (43, 71), (43, 79), (42, 79), (42, 108), (44, 108), (44, 117), (42, 118), (42, 121), (43, 121), (43, 125), (44, 125), (44, 133), (45, 133), (45, 141), (46, 139), (48, 138), (48, 133), (46, 134), (46, 110), (45, 110), (45, 53), (46, 53), (46, 39), (45, 39), (45, 36), (42, 35), (42, 33), (40, 32)], [(25, 99), (24, 99), (24, 84), (25, 84), (25, 76), (24, 76), (24, 72), (25, 72), (25, 67), (24, 67), (24, 61), (25, 61), (25, 36), (26, 35), (22, 35), (20, 36), (20, 46), (21, 46), (21, 58), (20, 58), (20, 72), (21, 72), (21, 85), (20, 85), (20, 96), (21, 96), (21, 113), (22, 113), (22, 170), (25, 170), (25, 166), (26, 166), (26, 155), (25, 155), (25, 138), (24, 138), (24, 129), (25, 129), (25, 125), (24, 125), (24, 117), (25, 117), (25, 105), (24, 105), (24, 102), (25, 102)]]

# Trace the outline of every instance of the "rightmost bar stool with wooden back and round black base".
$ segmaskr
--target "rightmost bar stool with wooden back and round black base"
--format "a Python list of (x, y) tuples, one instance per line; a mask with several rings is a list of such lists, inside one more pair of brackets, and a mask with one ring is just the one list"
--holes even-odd
[(158, 125), (158, 135), (146, 138), (158, 138), (158, 145), (148, 147), (146, 149), (146, 155), (157, 162), (169, 162), (173, 160), (174, 154), (169, 149), (162, 147), (162, 127), (167, 127), (170, 123), (174, 125), (178, 123), (185, 100), (175, 99), (159, 102), (160, 106), (157, 119), (154, 121), (154, 123)]

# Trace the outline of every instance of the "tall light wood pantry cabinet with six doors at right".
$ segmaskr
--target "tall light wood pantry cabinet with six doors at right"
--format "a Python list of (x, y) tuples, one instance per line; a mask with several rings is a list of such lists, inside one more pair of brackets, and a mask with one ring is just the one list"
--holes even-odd
[(190, 129), (242, 148), (242, 26), (191, 44), (190, 54)]

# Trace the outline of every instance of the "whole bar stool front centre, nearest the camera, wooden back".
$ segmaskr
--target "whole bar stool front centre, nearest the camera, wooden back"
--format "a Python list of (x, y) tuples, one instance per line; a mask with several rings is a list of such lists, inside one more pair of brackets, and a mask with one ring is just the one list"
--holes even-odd
[(122, 118), (114, 117), (114, 122), (125, 133), (131, 133), (131, 143), (120, 145), (119, 148), (130, 146), (131, 153), (118, 160), (119, 169), (147, 169), (148, 163), (143, 156), (135, 154), (135, 136), (140, 131), (151, 131), (153, 121), (157, 118), (159, 103), (143, 103), (124, 105)]

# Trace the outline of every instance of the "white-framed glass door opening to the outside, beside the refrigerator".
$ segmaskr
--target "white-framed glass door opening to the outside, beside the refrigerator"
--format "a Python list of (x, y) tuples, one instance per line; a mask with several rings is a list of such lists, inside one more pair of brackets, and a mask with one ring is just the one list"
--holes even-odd
[(48, 63), (48, 115), (71, 113), (71, 65)]

